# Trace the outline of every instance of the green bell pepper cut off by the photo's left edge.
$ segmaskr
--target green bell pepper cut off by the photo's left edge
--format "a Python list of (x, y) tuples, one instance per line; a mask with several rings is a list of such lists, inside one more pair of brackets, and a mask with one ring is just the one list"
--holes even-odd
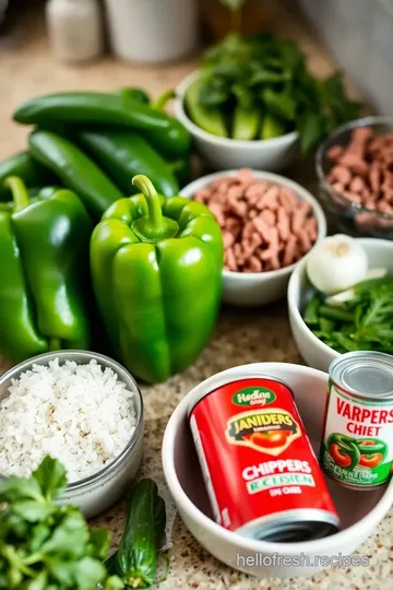
[(86, 349), (92, 222), (69, 190), (32, 203), (20, 178), (5, 184), (14, 208), (0, 211), (0, 352), (19, 363), (48, 350)]

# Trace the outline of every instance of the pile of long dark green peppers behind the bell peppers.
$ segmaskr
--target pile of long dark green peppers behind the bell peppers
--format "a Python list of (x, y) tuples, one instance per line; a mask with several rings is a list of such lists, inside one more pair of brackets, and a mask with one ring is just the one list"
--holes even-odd
[(130, 179), (145, 174), (165, 197), (188, 181), (191, 140), (164, 113), (172, 92), (156, 103), (139, 88), (117, 93), (73, 92), (33, 98), (14, 113), (19, 123), (35, 126), (28, 152), (0, 164), (0, 200), (11, 200), (9, 176), (28, 189), (48, 184), (78, 193), (93, 220), (132, 190)]

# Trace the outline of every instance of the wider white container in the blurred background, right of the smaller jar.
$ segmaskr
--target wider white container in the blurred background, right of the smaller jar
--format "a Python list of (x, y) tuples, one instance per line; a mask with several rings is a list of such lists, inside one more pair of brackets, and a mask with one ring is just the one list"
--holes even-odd
[(114, 52), (164, 62), (190, 54), (199, 40), (198, 0), (105, 0)]

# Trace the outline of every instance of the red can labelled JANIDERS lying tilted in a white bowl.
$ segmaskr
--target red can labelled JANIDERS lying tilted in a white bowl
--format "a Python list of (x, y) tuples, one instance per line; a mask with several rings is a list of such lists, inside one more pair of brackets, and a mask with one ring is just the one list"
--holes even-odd
[(275, 542), (337, 531), (338, 516), (285, 382), (258, 375), (202, 388), (189, 418), (216, 522)]

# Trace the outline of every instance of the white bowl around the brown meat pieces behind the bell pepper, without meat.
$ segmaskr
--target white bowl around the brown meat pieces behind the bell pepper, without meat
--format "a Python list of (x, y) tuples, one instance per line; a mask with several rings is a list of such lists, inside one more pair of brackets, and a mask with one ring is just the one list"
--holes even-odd
[[(209, 176), (203, 176), (184, 187), (180, 194), (192, 199), (193, 196), (201, 189), (207, 187), (218, 178), (227, 178), (236, 176), (238, 170), (224, 170)], [(286, 187), (295, 192), (300, 201), (307, 201), (311, 204), (313, 213), (318, 222), (318, 239), (317, 243), (323, 239), (326, 235), (326, 219), (323, 210), (317, 199), (303, 187), (272, 173), (253, 170), (253, 176), (257, 180), (269, 180), (283, 187)], [(306, 255), (307, 256), (307, 255)], [(223, 302), (243, 306), (255, 307), (276, 302), (285, 297), (290, 273), (295, 269), (295, 264), (285, 267), (276, 271), (248, 273), (248, 272), (231, 272), (223, 271)]]

